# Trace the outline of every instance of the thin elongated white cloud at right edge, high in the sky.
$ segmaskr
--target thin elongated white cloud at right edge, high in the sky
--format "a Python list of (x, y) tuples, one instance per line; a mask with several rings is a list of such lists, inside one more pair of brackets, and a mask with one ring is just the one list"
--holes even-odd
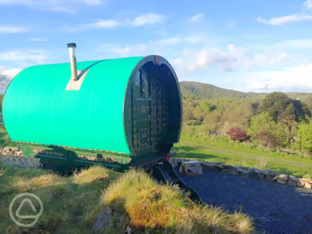
[(312, 15), (309, 14), (293, 14), (290, 16), (275, 17), (270, 20), (262, 19), (261, 17), (257, 18), (257, 21), (259, 22), (278, 26), (286, 23), (310, 21), (310, 20), (312, 20)]

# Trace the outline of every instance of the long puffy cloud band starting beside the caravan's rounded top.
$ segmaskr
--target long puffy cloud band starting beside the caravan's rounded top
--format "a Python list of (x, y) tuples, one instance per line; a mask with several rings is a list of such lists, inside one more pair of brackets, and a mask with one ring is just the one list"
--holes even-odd
[(299, 65), (307, 59), (299, 53), (287, 53), (276, 49), (267, 49), (259, 53), (251, 53), (247, 48), (236, 47), (232, 44), (226, 50), (207, 46), (199, 50), (185, 49), (182, 56), (172, 60), (179, 75), (193, 72), (197, 69), (217, 65), (220, 71), (230, 72), (234, 69), (249, 70), (265, 68), (280, 64)]

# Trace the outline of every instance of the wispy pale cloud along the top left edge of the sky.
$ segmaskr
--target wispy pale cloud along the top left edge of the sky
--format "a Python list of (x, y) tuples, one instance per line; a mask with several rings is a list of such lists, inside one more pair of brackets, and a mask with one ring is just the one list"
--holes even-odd
[(22, 5), (38, 10), (66, 13), (76, 13), (73, 6), (76, 7), (78, 4), (97, 6), (102, 3), (101, 0), (0, 0), (0, 5)]

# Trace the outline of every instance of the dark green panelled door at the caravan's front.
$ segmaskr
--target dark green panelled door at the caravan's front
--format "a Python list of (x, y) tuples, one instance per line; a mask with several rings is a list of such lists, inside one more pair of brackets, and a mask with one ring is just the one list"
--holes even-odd
[(134, 78), (134, 149), (139, 154), (152, 154), (152, 105), (149, 77), (140, 70)]

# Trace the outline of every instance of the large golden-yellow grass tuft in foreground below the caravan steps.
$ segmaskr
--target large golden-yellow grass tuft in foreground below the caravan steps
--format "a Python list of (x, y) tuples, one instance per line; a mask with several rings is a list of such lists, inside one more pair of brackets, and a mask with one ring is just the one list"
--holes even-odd
[[(159, 185), (143, 171), (130, 170), (122, 175), (104, 191), (101, 201), (102, 208), (110, 207), (119, 219), (144, 233), (245, 234), (254, 231), (247, 215), (195, 204), (178, 187)], [(122, 228), (117, 227), (115, 231)]]

